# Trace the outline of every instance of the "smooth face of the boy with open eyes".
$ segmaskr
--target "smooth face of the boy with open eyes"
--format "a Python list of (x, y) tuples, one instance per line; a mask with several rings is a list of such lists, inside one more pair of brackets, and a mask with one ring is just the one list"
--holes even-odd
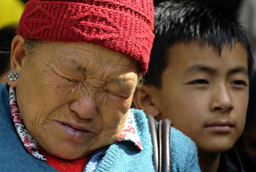
[(199, 150), (222, 152), (241, 135), (248, 105), (248, 64), (240, 43), (221, 55), (196, 41), (177, 43), (156, 91), (160, 118), (197, 143)]

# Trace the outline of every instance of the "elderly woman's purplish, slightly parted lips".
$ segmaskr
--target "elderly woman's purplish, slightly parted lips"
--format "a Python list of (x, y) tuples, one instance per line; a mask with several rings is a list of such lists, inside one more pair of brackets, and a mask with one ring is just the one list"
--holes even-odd
[(94, 134), (89, 129), (73, 123), (59, 121), (56, 122), (64, 133), (68, 134), (70, 137), (77, 138), (78, 140), (91, 138)]

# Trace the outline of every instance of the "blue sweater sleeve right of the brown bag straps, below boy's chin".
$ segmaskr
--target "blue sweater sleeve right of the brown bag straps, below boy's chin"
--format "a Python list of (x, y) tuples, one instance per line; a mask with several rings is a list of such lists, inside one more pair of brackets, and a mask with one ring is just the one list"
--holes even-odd
[(171, 128), (172, 172), (200, 172), (196, 144), (176, 128)]

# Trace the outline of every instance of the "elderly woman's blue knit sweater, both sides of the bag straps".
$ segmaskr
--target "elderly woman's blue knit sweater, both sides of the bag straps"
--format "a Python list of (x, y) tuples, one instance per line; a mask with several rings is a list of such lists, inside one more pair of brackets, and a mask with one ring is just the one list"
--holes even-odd
[[(0, 171), (57, 171), (25, 150), (11, 118), (8, 92), (7, 85), (0, 85)], [(147, 119), (142, 111), (133, 109), (133, 112), (143, 151), (128, 141), (113, 143), (99, 163), (97, 172), (154, 171)], [(200, 171), (196, 145), (191, 139), (172, 127), (171, 143), (172, 172)]]

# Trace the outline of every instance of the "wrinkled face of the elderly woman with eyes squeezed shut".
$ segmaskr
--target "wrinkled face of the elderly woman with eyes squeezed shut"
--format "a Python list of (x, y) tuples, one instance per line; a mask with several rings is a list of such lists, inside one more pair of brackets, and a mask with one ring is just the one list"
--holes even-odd
[(22, 61), (17, 102), (30, 134), (66, 159), (113, 143), (138, 79), (132, 58), (101, 46), (48, 42)]

